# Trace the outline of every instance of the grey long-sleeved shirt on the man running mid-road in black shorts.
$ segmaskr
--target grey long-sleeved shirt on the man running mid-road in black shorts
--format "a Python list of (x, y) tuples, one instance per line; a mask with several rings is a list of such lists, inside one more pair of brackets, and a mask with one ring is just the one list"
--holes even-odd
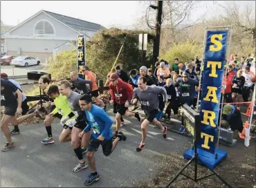
[(140, 100), (141, 108), (147, 113), (158, 109), (159, 100), (158, 95), (163, 95), (163, 101), (167, 101), (167, 94), (165, 88), (157, 86), (147, 86), (146, 91), (141, 91), (139, 88), (134, 88), (134, 98)]

